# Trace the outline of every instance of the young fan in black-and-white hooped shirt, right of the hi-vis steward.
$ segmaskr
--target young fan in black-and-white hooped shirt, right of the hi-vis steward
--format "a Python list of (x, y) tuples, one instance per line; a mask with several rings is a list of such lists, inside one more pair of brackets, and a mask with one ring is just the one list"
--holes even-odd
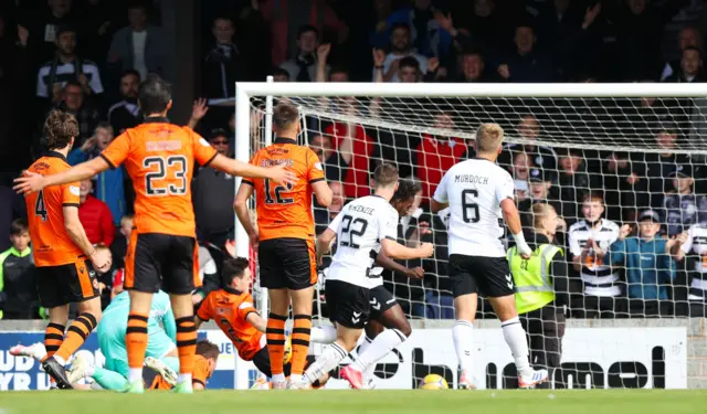
[(584, 220), (572, 224), (568, 231), (570, 253), (574, 269), (584, 284), (585, 317), (593, 312), (614, 311), (615, 300), (621, 296), (619, 272), (604, 264), (604, 253), (619, 238), (620, 227), (611, 220), (602, 219), (604, 201), (598, 193), (584, 194), (582, 203)]

